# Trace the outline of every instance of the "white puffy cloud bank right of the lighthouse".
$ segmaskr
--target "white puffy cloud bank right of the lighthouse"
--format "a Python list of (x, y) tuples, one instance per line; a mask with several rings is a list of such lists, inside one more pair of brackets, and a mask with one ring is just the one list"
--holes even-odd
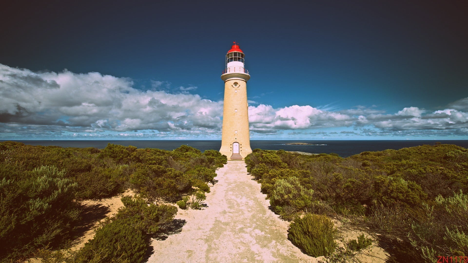
[[(449, 104), (458, 105), (462, 109), (467, 100), (462, 99)], [(290, 107), (273, 109), (270, 105), (260, 104), (249, 106), (251, 130), (260, 132), (274, 132), (278, 130), (306, 130), (331, 127), (354, 127), (361, 129), (366, 135), (394, 134), (398, 136), (441, 136), (458, 135), (467, 136), (468, 112), (454, 109), (428, 110), (417, 107), (403, 108), (395, 114), (386, 114), (384, 110), (375, 110), (362, 106), (356, 109), (327, 111), (311, 106), (293, 105)], [(369, 127), (377, 130), (366, 130)], [(424, 132), (423, 132), (424, 131)], [(362, 135), (354, 131), (342, 131), (341, 134)], [(305, 134), (305, 133), (303, 133)]]

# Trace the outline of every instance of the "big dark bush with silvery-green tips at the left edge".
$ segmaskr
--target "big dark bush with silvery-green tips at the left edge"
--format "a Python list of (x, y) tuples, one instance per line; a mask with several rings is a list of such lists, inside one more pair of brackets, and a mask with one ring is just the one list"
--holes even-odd
[(0, 257), (10, 253), (15, 257), (44, 246), (57, 247), (71, 237), (80, 209), (73, 200), (76, 183), (65, 178), (64, 171), (42, 166), (17, 180), (2, 177)]

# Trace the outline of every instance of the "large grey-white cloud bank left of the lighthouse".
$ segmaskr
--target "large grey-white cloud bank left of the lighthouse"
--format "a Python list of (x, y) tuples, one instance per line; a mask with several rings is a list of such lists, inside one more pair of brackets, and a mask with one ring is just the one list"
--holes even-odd
[[(131, 79), (94, 72), (34, 73), (0, 64), (0, 122), (47, 125), (44, 129), (57, 132), (83, 132), (79, 127), (84, 127), (91, 131), (219, 133), (222, 101), (163, 90), (141, 91), (132, 85)], [(153, 88), (167, 85), (152, 82)], [(183, 91), (195, 88), (180, 87)]]

